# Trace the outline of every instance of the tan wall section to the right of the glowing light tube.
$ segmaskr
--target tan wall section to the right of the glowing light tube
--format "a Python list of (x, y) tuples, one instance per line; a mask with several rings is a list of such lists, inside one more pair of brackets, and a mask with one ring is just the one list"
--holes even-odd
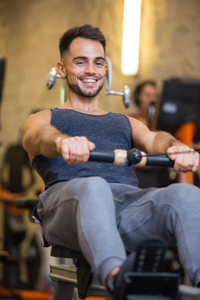
[(141, 78), (200, 77), (199, 14), (199, 0), (143, 0)]

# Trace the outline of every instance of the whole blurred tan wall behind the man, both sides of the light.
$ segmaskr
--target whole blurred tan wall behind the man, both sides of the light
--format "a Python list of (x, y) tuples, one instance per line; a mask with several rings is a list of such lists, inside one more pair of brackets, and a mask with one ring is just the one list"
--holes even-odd
[[(173, 75), (199, 77), (199, 14), (199, 0), (142, 0), (139, 74), (127, 77), (120, 73), (123, 0), (0, 0), (0, 54), (7, 57), (0, 139), (4, 145), (16, 141), (32, 109), (59, 105), (59, 79), (51, 90), (45, 80), (59, 59), (58, 38), (70, 26), (101, 28), (112, 89), (121, 91), (144, 78), (161, 83)], [(100, 102), (102, 109), (125, 112), (121, 97), (106, 97), (104, 90)]]

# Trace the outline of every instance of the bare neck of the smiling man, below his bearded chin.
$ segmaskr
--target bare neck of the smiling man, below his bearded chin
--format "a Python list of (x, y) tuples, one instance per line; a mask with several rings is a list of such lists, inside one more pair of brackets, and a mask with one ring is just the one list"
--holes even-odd
[(78, 109), (87, 112), (98, 110), (98, 97), (98, 95), (91, 98), (83, 97), (68, 88), (67, 100), (62, 107), (68, 109)]

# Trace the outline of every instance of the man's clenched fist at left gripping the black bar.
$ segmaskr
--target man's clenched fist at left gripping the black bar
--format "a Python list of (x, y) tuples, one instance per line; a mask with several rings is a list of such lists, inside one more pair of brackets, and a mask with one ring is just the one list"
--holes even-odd
[(67, 163), (85, 163), (95, 144), (85, 136), (57, 137), (55, 140), (57, 152)]

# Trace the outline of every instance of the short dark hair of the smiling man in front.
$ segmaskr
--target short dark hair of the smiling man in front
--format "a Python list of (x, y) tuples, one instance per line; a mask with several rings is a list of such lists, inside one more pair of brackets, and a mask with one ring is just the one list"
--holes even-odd
[(82, 26), (69, 28), (59, 38), (59, 53), (61, 58), (63, 53), (69, 50), (72, 40), (76, 37), (98, 40), (105, 53), (106, 40), (103, 33), (98, 27), (92, 27), (89, 24), (84, 24)]

